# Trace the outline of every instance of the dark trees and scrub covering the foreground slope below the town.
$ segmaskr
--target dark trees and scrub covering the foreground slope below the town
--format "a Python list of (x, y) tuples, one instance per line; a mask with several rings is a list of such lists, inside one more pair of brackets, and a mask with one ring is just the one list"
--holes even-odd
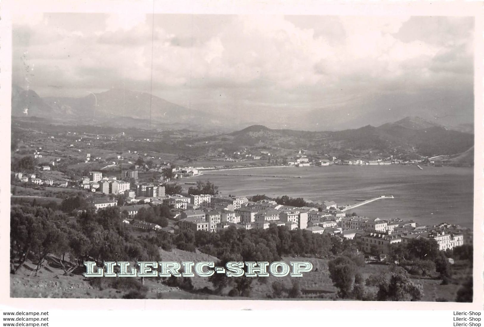
[[(103, 294), (106, 297), (116, 294), (127, 298), (163, 297), (153, 295), (152, 290), (167, 287), (182, 292), (182, 298), (231, 296), (357, 300), (425, 299), (425, 289), (430, 287), (427, 281), (435, 281), (438, 283), (431, 285), (434, 289), (447, 289), (447, 285), (462, 283), (456, 293), (453, 291), (453, 298), (439, 296), (435, 297), (437, 300), (472, 299), (472, 247), (469, 245), (441, 252), (435, 241), (418, 239), (393, 247), (390, 257), (398, 259), (397, 264), (368, 265), (358, 251), (358, 242), (336, 236), (299, 229), (289, 231), (285, 226), (275, 225), (266, 230), (231, 227), (219, 233), (139, 233), (122, 222), (123, 213), (116, 207), (97, 212), (87, 208), (72, 216), (68, 212), (77, 207), (77, 202), (75, 198), (69, 198), (56, 206), (12, 205), (10, 265), (14, 281), (27, 278), (25, 274), (17, 276), (22, 269), (31, 270), (29, 276), (38, 278), (56, 267), (66, 281), (72, 278), (79, 283), (87, 282), (91, 291), (105, 290), (97, 293), (96, 297), (103, 297)], [(170, 217), (169, 210), (159, 206), (140, 210), (135, 218), (166, 223)], [(181, 252), (179, 261), (186, 261), (190, 256), (188, 253), (194, 253), (196, 259), (209, 255), (211, 260), (216, 261), (216, 266), (223, 266), (227, 261), (272, 262), (287, 260), (288, 257), (298, 260), (305, 257), (313, 262), (314, 271), (301, 279), (277, 279), (273, 276), (227, 278), (215, 274), (203, 281), (170, 277), (154, 282), (81, 277), (84, 260), (95, 261), (101, 266), (103, 261), (159, 261), (177, 252)], [(454, 268), (448, 257), (456, 260)], [(160, 286), (159, 282), (164, 286)], [(18, 290), (15, 284), (12, 287), (15, 294)], [(108, 290), (119, 293), (113, 294)]]

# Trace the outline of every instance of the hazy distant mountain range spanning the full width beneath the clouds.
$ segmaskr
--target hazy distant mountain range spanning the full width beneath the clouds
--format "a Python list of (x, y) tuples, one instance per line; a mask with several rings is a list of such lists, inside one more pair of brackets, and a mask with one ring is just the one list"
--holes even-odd
[[(386, 121), (401, 119), (405, 113), (420, 116), (425, 119), (414, 120), (412, 123), (425, 127), (443, 126), (439, 117), (433, 117), (429, 112), (420, 108), (396, 108), (393, 116), (377, 109), (365, 110), (364, 114), (357, 108), (326, 108), (312, 110), (297, 110), (292, 108), (283, 113), (254, 109), (246, 111), (226, 110), (215, 114), (210, 109), (195, 110), (168, 102), (147, 92), (138, 92), (125, 89), (109, 89), (105, 92), (91, 93), (84, 97), (40, 97), (34, 90), (22, 89), (13, 85), (12, 115), (35, 116), (51, 121), (64, 123), (82, 123), (108, 127), (136, 127), (141, 129), (183, 129), (196, 128), (205, 131), (229, 132), (238, 130), (243, 126), (262, 123), (265, 126), (277, 128), (284, 126), (287, 129), (301, 129), (309, 131), (348, 129), (360, 127), (364, 124), (381, 124), (382, 129)], [(151, 108), (151, 109), (150, 109)], [(151, 119), (150, 119), (151, 115)], [(445, 119), (452, 119), (447, 115)], [(383, 120), (383, 121), (382, 121)], [(440, 124), (432, 122), (439, 121)], [(449, 120), (447, 120), (449, 121)], [(453, 123), (445, 124), (447, 129), (465, 133), (473, 133), (473, 124), (451, 120)], [(405, 120), (400, 124), (406, 124)], [(388, 125), (390, 126), (390, 125)], [(411, 127), (402, 125), (402, 127)]]

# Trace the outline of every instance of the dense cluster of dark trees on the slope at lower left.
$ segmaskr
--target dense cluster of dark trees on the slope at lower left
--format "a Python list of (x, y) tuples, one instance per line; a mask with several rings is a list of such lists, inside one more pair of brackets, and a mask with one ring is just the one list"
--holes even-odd
[(74, 271), (84, 259), (102, 265), (103, 261), (159, 258), (153, 242), (132, 236), (115, 207), (98, 212), (88, 208), (72, 221), (61, 211), (14, 205), (10, 242), (12, 273), (28, 258), (39, 271), (49, 255), (62, 266), (65, 274)]

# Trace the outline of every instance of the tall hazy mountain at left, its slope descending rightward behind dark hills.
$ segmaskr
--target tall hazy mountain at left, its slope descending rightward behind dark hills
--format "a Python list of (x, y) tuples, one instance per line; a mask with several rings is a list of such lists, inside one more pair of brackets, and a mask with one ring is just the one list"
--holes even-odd
[[(221, 125), (223, 118), (170, 103), (146, 92), (109, 89), (84, 97), (41, 98), (33, 90), (13, 86), (12, 115), (37, 116), (57, 122), (76, 122), (112, 127), (187, 128)], [(25, 111), (27, 110), (27, 113)]]

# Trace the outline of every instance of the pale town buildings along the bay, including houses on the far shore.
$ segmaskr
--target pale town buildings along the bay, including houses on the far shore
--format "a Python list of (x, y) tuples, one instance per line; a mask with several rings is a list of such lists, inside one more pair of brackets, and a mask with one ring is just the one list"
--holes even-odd
[[(263, 153), (269, 155), (269, 153)], [(42, 156), (36, 153), (38, 158)], [(47, 158), (47, 156), (46, 156)], [(86, 155), (86, 158), (91, 158)], [(294, 165), (310, 164), (314, 161), (303, 153), (287, 158), (287, 164)], [(49, 159), (50, 160), (50, 159)], [(52, 159), (56, 160), (56, 159)], [(59, 162), (59, 159), (57, 159)], [(55, 164), (53, 162), (53, 164)], [(57, 180), (51, 179), (51, 166), (37, 165), (36, 174), (17, 172), (17, 180), (36, 185), (58, 184)], [(338, 161), (336, 158), (320, 160), (319, 164), (386, 164), (382, 161), (363, 162)], [(58, 165), (57, 165), (58, 166)], [(56, 167), (57, 167), (56, 166)], [(361, 244), (361, 248), (367, 253), (388, 253), (391, 247), (397, 243), (405, 243), (415, 238), (434, 239), (440, 250), (452, 249), (455, 246), (464, 244), (464, 236), (452, 226), (423, 226), (411, 220), (398, 218), (380, 219), (370, 217), (347, 216), (346, 212), (338, 208), (334, 201), (314, 202), (308, 207), (296, 208), (284, 206), (272, 200), (249, 201), (246, 197), (236, 195), (211, 195), (211, 194), (171, 194), (166, 195), (166, 189), (160, 183), (166, 178), (154, 176), (148, 182), (140, 182), (143, 179), (140, 171), (134, 169), (121, 170), (116, 176), (103, 176), (101, 171), (89, 171), (89, 177), (72, 181), (71, 185), (80, 187), (87, 192), (110, 195), (125, 194), (127, 203), (132, 205), (117, 207), (117, 199), (99, 199), (93, 201), (97, 209), (117, 207), (126, 223), (140, 230), (161, 230), (159, 225), (133, 221), (141, 208), (150, 208), (151, 205), (165, 204), (175, 213), (176, 226), (171, 227), (169, 232), (175, 228), (190, 229), (193, 231), (217, 232), (225, 228), (236, 227), (244, 229), (267, 229), (272, 224), (286, 226), (288, 229), (303, 229), (315, 234), (339, 235), (342, 238), (354, 239)], [(170, 168), (167, 168), (170, 169)], [(43, 173), (43, 172), (46, 173)], [(103, 170), (104, 171), (104, 170)], [(148, 170), (147, 170), (148, 171)], [(200, 174), (200, 169), (194, 167), (173, 168), (172, 176), (190, 177)], [(141, 178), (140, 178), (141, 176)], [(121, 179), (118, 179), (121, 178)], [(61, 184), (67, 186), (67, 182)], [(145, 204), (138, 204), (140, 201)], [(151, 204), (148, 204), (150, 203)], [(127, 216), (126, 216), (127, 213)]]

